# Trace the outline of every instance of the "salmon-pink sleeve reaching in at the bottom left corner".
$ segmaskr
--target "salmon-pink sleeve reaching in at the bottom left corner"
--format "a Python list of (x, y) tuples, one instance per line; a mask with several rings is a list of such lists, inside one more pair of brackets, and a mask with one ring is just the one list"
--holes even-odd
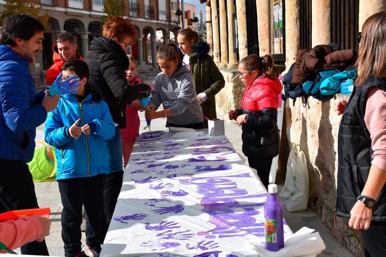
[(7, 220), (0, 222), (0, 241), (8, 248), (16, 249), (35, 241), (42, 230), (42, 224), (34, 217), (24, 216), (18, 220)]

